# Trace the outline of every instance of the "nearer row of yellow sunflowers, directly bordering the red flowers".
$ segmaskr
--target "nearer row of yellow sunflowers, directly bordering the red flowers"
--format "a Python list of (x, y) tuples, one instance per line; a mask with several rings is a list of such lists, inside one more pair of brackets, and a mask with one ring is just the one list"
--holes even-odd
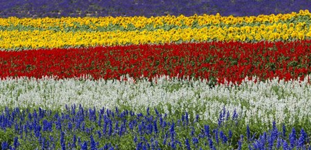
[(0, 31), (2, 50), (17, 48), (60, 48), (66, 46), (113, 46), (125, 44), (163, 44), (180, 41), (278, 41), (307, 39), (311, 37), (310, 28), (303, 23), (295, 28), (291, 24), (272, 26), (243, 26), (220, 28), (185, 28), (172, 30), (112, 32), (56, 32), (51, 30)]

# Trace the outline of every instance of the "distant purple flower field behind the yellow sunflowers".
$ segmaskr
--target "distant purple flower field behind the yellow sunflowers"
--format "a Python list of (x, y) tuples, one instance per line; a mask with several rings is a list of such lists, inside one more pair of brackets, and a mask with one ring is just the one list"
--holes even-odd
[(269, 15), (311, 8), (310, 0), (11, 0), (0, 1), (0, 17), (223, 16)]

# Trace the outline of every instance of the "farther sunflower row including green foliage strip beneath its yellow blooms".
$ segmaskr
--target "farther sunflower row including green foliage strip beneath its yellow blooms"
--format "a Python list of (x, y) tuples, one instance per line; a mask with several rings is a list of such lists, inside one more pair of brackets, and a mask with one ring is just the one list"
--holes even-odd
[(194, 15), (185, 17), (180, 15), (162, 16), (162, 17), (62, 17), (57, 18), (24, 18), (9, 17), (8, 19), (0, 19), (0, 29), (2, 30), (155, 30), (156, 28), (171, 29), (171, 28), (203, 28), (205, 26), (258, 26), (258, 24), (298, 24), (305, 22), (310, 25), (310, 12), (308, 10), (300, 10), (297, 14), (278, 14), (278, 15), (259, 15), (258, 17), (222, 17), (217, 15)]

